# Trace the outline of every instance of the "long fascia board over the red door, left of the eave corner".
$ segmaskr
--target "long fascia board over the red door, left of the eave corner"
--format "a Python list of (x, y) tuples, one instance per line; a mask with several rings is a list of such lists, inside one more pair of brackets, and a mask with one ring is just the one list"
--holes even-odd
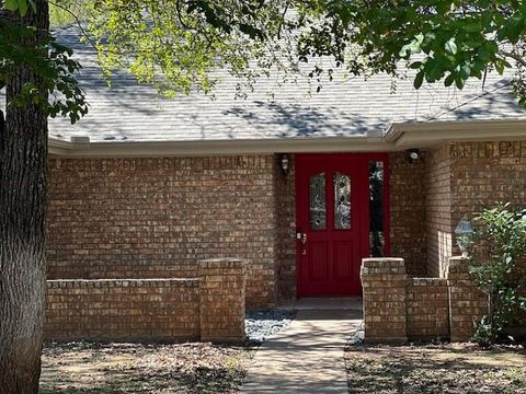
[(392, 143), (381, 137), (331, 137), (316, 139), (270, 140), (207, 140), (207, 141), (148, 141), (91, 142), (73, 144), (49, 140), (49, 153), (69, 158), (152, 158), (213, 154), (268, 154), (321, 152), (387, 152)]

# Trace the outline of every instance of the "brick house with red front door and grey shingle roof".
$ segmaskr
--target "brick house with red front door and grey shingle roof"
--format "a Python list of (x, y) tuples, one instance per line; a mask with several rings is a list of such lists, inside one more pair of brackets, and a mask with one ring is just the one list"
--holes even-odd
[[(363, 257), (441, 277), (459, 219), (526, 204), (526, 112), (490, 73), (464, 91), (378, 76), (159, 97), (65, 28), (90, 114), (49, 125), (48, 277), (188, 277), (248, 259), (247, 306), (359, 296)], [(273, 93), (271, 97), (268, 92)]]

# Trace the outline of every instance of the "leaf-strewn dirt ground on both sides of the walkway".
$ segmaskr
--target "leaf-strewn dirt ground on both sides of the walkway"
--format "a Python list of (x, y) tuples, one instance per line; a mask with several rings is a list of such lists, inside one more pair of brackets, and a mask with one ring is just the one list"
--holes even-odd
[[(46, 344), (41, 394), (238, 393), (253, 350), (210, 344)], [(350, 393), (526, 394), (526, 350), (348, 346)]]

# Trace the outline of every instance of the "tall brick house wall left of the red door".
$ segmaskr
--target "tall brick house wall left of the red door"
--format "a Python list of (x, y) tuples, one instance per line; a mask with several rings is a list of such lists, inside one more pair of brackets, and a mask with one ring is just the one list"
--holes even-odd
[(248, 308), (276, 287), (273, 155), (52, 159), (48, 278), (196, 275), (197, 259), (251, 262)]

